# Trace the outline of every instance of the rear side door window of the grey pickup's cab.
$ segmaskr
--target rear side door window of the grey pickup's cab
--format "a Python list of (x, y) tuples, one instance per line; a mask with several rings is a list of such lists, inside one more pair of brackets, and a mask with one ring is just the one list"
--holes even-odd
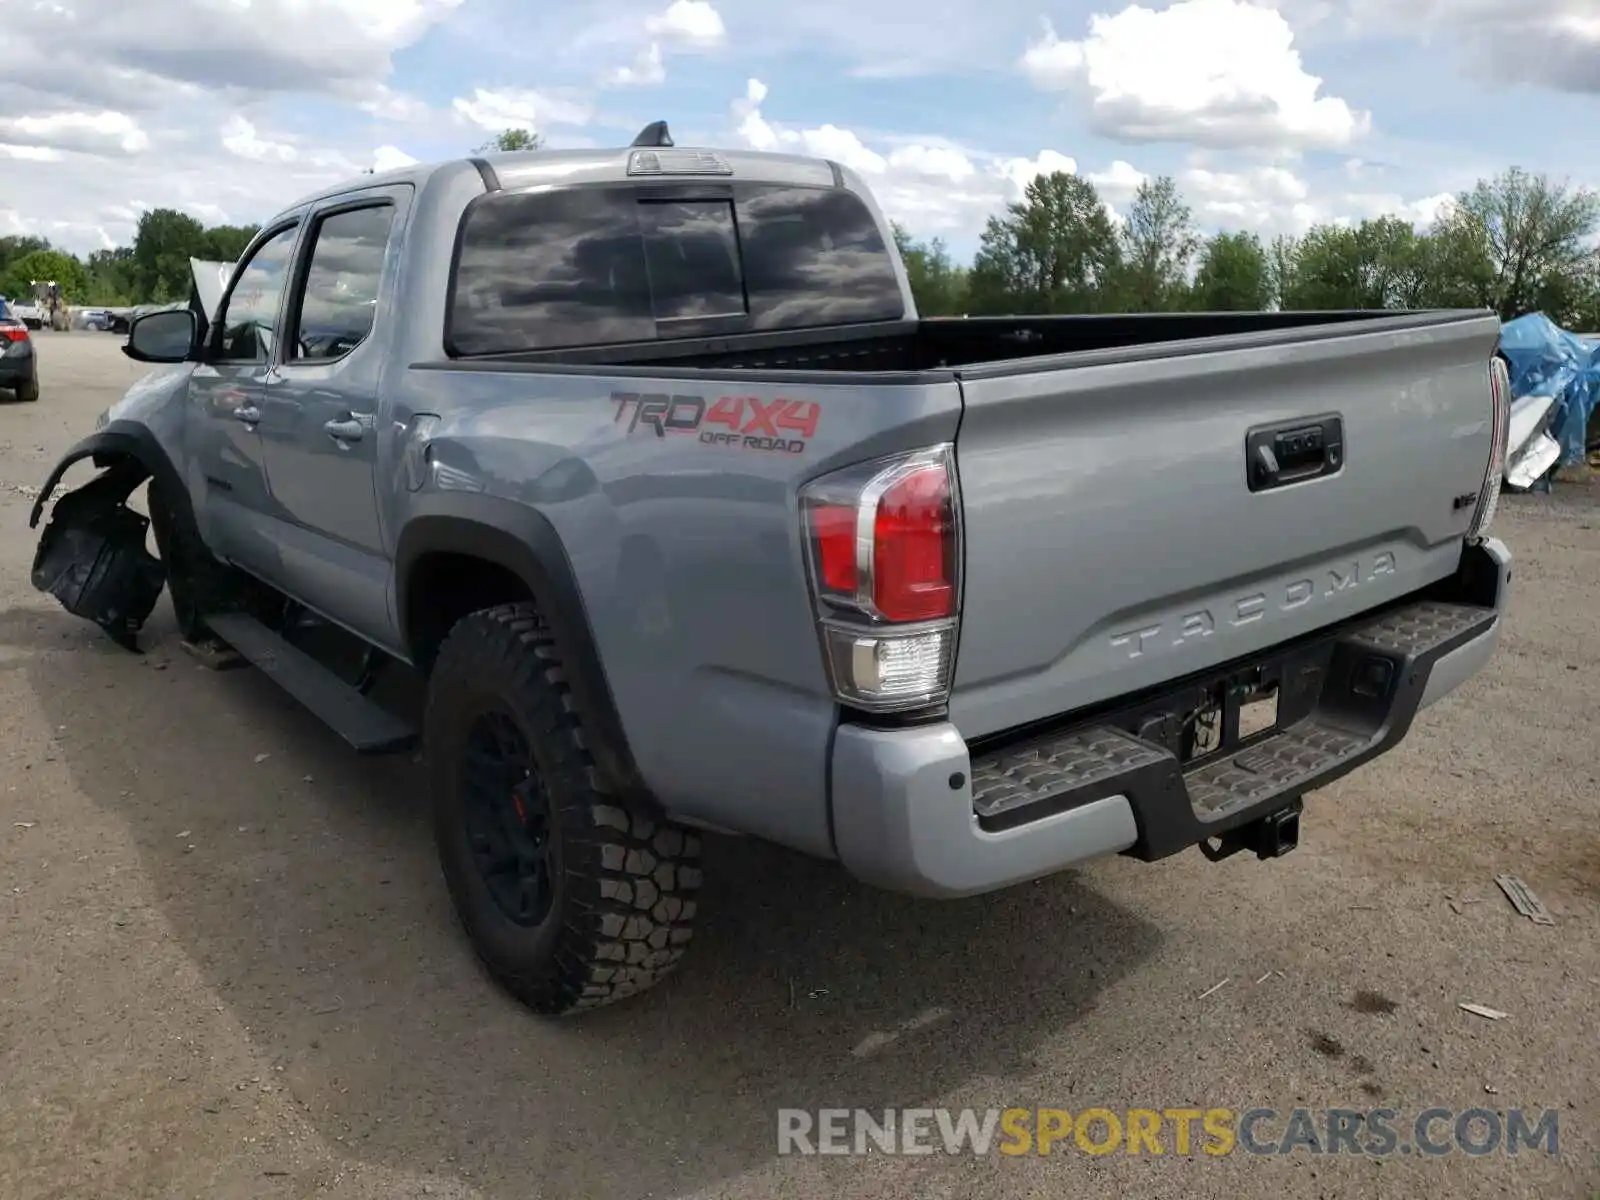
[(394, 205), (368, 205), (317, 222), (306, 290), (294, 306), (290, 362), (342, 358), (373, 331)]

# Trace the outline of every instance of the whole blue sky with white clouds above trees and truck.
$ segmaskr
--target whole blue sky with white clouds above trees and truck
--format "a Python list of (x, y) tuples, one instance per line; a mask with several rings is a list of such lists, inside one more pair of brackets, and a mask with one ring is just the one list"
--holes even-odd
[[(0, 234), (88, 251), (142, 208), (254, 222), (366, 166), (782, 147), (970, 253), (1040, 170), (1202, 226), (1398, 213), (1510, 163), (1600, 184), (1600, 0), (0, 0)], [(1587, 133), (1584, 133), (1587, 131)]]

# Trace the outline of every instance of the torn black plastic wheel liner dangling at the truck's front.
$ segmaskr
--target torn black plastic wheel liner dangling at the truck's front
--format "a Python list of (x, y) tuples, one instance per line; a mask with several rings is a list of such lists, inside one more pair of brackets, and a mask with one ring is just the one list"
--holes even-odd
[(128, 507), (147, 475), (138, 462), (120, 462), (69, 491), (34, 552), (34, 587), (134, 653), (166, 582), (166, 568), (146, 549), (149, 518)]

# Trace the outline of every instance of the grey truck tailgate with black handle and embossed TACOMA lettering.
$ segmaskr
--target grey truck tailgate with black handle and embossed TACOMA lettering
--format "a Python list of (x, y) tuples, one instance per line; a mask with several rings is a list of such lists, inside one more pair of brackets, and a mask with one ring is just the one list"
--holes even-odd
[(1498, 334), (1491, 314), (1378, 318), (963, 371), (957, 728), (1125, 696), (1450, 574)]

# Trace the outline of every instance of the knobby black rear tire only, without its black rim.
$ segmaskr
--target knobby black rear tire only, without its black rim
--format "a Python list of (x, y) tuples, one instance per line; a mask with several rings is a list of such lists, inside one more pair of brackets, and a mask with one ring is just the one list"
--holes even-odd
[[(462, 755), (475, 718), (491, 709), (526, 739), (549, 802), (552, 904), (536, 926), (502, 914), (467, 840)], [(677, 966), (693, 933), (699, 837), (605, 794), (534, 605), (486, 608), (451, 629), (429, 675), (424, 757), (456, 915), (485, 968), (522, 1003), (546, 1016), (594, 1010)]]

